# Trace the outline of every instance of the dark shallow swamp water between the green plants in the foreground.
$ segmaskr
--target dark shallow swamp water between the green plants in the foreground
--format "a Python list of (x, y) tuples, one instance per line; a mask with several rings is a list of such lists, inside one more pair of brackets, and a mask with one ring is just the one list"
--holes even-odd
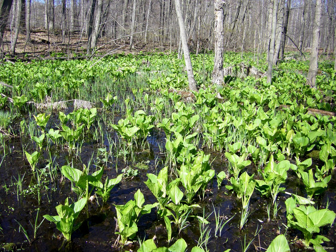
[[(68, 111), (70, 112), (70, 111)], [(27, 117), (27, 115), (26, 115)], [(120, 117), (114, 117), (114, 123), (118, 122)], [(57, 113), (53, 112), (47, 128), (55, 128), (57, 124)], [(15, 138), (5, 140), (6, 156), (3, 158), (0, 169), (0, 244), (15, 244), (14, 250), (16, 251), (136, 251), (139, 247), (137, 240), (123, 248), (114, 247), (118, 235), (116, 232), (116, 210), (115, 205), (122, 205), (133, 199), (134, 193), (140, 189), (145, 197), (145, 204), (156, 202), (155, 197), (152, 195), (148, 187), (143, 183), (147, 180), (146, 173), (157, 174), (163, 167), (162, 161), (165, 160), (164, 149), (165, 134), (163, 131), (154, 130), (151, 136), (148, 137), (149, 150), (136, 150), (134, 155), (134, 164), (132, 162), (124, 162), (122, 157), (117, 158), (117, 150), (113, 146), (109, 146), (107, 134), (110, 134), (113, 139), (117, 139), (117, 134), (111, 130), (107, 125), (104, 128), (107, 133), (102, 134), (102, 139), (93, 140), (93, 137), (86, 137), (81, 147), (81, 152), (76, 155), (69, 152), (64, 146), (51, 145), (51, 157), (45, 148), (42, 150), (42, 156), (38, 162), (38, 168), (44, 168), (49, 163), (48, 160), (53, 161), (53, 166), (56, 167), (55, 179), (52, 179), (48, 169), (45, 174), (42, 174), (43, 179), (38, 185), (37, 178), (31, 173), (30, 165), (24, 156), (23, 146), (25, 151), (31, 153), (38, 147), (32, 143), (29, 138), (24, 136), (20, 137), (18, 128), (20, 122), (13, 123), (13, 130), (18, 134)], [(112, 155), (109, 157), (108, 162), (102, 161), (103, 157), (99, 154), (99, 148), (107, 148)], [(201, 146), (199, 146), (200, 149)], [(226, 161), (223, 153), (214, 153), (204, 149), (206, 153), (211, 153), (211, 160), (215, 158), (212, 163), (212, 168), (216, 174), (222, 170), (226, 171)], [(1, 159), (4, 150), (0, 150)], [(93, 157), (93, 158), (92, 158)], [(97, 158), (98, 157), (98, 158)], [(125, 167), (131, 167), (138, 170), (136, 176), (124, 178), (122, 182), (116, 185), (108, 202), (104, 205), (98, 205), (96, 200), (89, 202), (88, 210), (84, 210), (79, 215), (78, 221), (82, 225), (72, 235), (72, 242), (64, 243), (61, 233), (56, 229), (54, 223), (44, 220), (41, 226), (36, 231), (34, 238), (35, 218), (37, 216), (37, 223), (43, 220), (44, 214), (55, 215), (55, 207), (60, 203), (64, 204), (67, 197), (77, 200), (77, 194), (71, 190), (71, 182), (69, 180), (61, 179), (60, 167), (73, 164), (77, 169), (82, 169), (83, 164), (88, 164), (90, 159), (93, 159), (90, 166), (90, 171), (95, 171), (95, 161), (104, 166), (103, 177), (109, 178), (116, 177), (122, 172)], [(319, 161), (313, 161), (313, 167), (321, 165)], [(248, 167), (249, 174), (257, 174), (256, 168), (251, 165)], [(22, 181), (22, 182), (18, 182)], [(233, 252), (242, 251), (244, 240), (246, 244), (254, 238), (252, 245), (247, 251), (265, 251), (269, 243), (278, 235), (284, 234), (287, 224), (285, 200), (289, 197), (286, 194), (279, 194), (280, 207), (276, 218), (273, 217), (271, 210), (271, 220), (267, 222), (266, 205), (271, 202), (271, 199), (264, 199), (256, 193), (256, 190), (251, 198), (251, 214), (249, 216), (246, 226), (240, 231), (239, 223), (241, 216), (241, 200), (237, 199), (236, 195), (225, 188), (228, 180), (222, 182), (218, 188), (217, 180), (214, 178), (208, 185), (208, 190), (205, 193), (204, 200), (196, 199), (196, 203), (201, 208), (194, 210), (195, 215), (208, 216), (210, 239), (207, 245), (209, 251), (225, 251), (231, 249)], [(329, 209), (336, 211), (335, 203), (335, 185), (336, 174), (332, 174), (332, 179), (328, 184), (327, 191), (317, 198), (316, 205), (319, 208), (326, 207), (329, 203)], [(286, 184), (286, 191), (289, 193), (296, 193), (299, 196), (305, 197), (304, 185), (299, 182), (294, 172), (289, 170), (288, 179)], [(181, 188), (182, 189), (182, 188)], [(224, 219), (230, 220), (223, 228), (221, 237), (214, 236), (215, 216), (213, 210), (216, 210)], [(19, 228), (18, 222), (26, 229), (30, 242), (27, 241), (23, 230)], [(174, 237), (172, 243), (179, 238), (183, 238), (188, 248), (197, 245), (200, 236), (199, 224), (197, 219), (188, 218), (188, 226), (181, 230), (180, 234), (176, 227), (173, 226)], [(256, 230), (260, 230), (259, 234), (255, 236)], [(324, 227), (322, 235), (330, 239), (326, 243), (329, 247), (336, 248), (336, 228)], [(150, 214), (143, 215), (138, 222), (138, 238), (143, 241), (144, 239), (151, 239), (155, 237), (157, 246), (168, 246), (167, 232), (163, 219), (159, 219), (156, 215), (155, 209), (152, 209)], [(291, 251), (309, 251), (304, 249), (299, 243), (298, 239), (303, 238), (301, 232), (294, 229), (289, 229), (286, 234), (287, 240), (290, 243)], [(172, 244), (171, 243), (171, 244)], [(263, 249), (264, 248), (264, 249)], [(313, 251), (313, 250), (311, 250)]]

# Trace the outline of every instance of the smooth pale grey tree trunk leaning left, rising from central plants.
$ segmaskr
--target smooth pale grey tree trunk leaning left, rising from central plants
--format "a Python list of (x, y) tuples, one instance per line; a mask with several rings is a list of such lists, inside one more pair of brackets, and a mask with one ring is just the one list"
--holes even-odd
[(180, 0), (174, 0), (174, 2), (175, 2), (175, 10), (176, 10), (176, 16), (178, 20), (178, 25), (180, 27), (180, 39), (182, 42), (182, 48), (183, 48), (183, 53), (184, 53), (185, 68), (187, 70), (187, 75), (188, 75), (189, 89), (192, 91), (197, 91), (196, 81), (194, 78), (193, 67), (191, 64), (191, 58), (190, 58), (190, 53), (189, 53), (189, 48), (188, 48), (188, 43), (187, 43), (187, 38), (186, 38), (186, 33), (185, 33), (185, 27), (183, 23)]

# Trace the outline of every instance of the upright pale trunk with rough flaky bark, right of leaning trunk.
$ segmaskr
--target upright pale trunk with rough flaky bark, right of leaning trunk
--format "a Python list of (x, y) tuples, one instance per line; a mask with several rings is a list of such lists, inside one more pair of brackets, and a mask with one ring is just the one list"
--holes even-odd
[(224, 52), (224, 0), (215, 0), (215, 57), (214, 68), (212, 71), (212, 83), (214, 85), (222, 85), (223, 76), (223, 52)]

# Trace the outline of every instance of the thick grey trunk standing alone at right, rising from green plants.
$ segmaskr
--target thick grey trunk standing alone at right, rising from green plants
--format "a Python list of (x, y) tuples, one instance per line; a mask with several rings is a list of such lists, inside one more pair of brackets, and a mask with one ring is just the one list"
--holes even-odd
[(313, 23), (312, 43), (310, 49), (309, 69), (307, 75), (307, 84), (310, 88), (316, 88), (316, 73), (318, 68), (319, 40), (321, 27), (321, 0), (316, 0), (315, 17)]

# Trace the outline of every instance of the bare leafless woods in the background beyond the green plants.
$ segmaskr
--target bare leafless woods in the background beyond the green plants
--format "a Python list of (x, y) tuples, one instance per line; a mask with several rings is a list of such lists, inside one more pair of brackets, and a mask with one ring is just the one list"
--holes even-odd
[[(224, 50), (266, 52), (275, 2), (275, 53), (281, 54), (285, 45), (309, 51), (316, 0), (225, 1)], [(213, 50), (214, 0), (180, 0), (180, 4), (190, 50)], [(87, 54), (95, 52), (97, 44), (107, 43), (138, 50), (155, 45), (161, 50), (177, 49), (182, 55), (174, 0), (0, 0), (0, 5), (5, 54), (15, 53), (18, 37), (29, 44), (32, 33), (44, 32), (42, 42), (66, 44), (74, 38), (82, 41)], [(336, 45), (336, 0), (322, 0), (320, 6), (320, 53), (330, 54)]]

